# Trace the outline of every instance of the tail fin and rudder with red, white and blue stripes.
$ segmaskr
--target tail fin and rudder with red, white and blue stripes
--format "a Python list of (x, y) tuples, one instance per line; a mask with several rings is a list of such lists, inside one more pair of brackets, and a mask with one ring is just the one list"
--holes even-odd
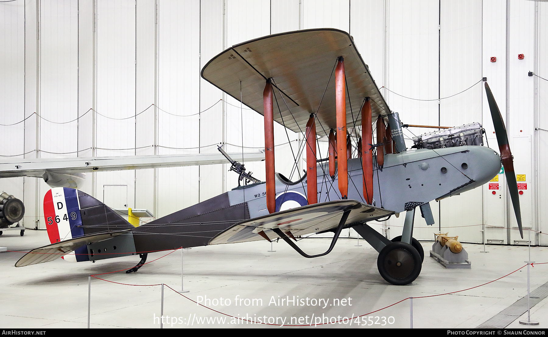
[[(50, 243), (133, 228), (101, 201), (67, 187), (52, 188), (45, 194), (44, 220)], [(79, 247), (63, 258), (74, 262), (88, 261), (87, 247)]]

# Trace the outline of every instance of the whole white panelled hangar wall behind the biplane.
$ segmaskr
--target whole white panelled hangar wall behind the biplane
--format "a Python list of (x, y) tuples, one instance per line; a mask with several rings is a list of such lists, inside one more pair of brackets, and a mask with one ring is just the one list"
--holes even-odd
[[(261, 115), (241, 109), (237, 100), (201, 79), (199, 71), (236, 43), (271, 33), (334, 27), (353, 36), (376, 83), (386, 87), (381, 89), (386, 101), (404, 123), (454, 126), (480, 121), (489, 145), (498, 150), (483, 83), (437, 100), (487, 77), (503, 115), (507, 113), (516, 173), (527, 176), (528, 189), (521, 196), (524, 226), (546, 232), (548, 83), (527, 72), (548, 77), (547, 15), (547, 3), (527, 0), (512, 1), (509, 11), (502, 0), (0, 3), (0, 124), (28, 117), (24, 123), (0, 125), (0, 155), (204, 153), (216, 152), (214, 144), (221, 142), (229, 152), (241, 151), (242, 144), (245, 150), (260, 148)], [(517, 60), (517, 54), (526, 57)], [(490, 56), (497, 62), (489, 62)], [(281, 125), (275, 129), (276, 144), (293, 141), (276, 152), (277, 171), (289, 175), (291, 149), (297, 152), (299, 135), (286, 135)], [(423, 132), (405, 131), (407, 138)], [(264, 179), (264, 163), (246, 167)], [(236, 176), (227, 168), (93, 173), (83, 190), (102, 199), (106, 185), (127, 186), (120, 189), (127, 190), (129, 207), (164, 216), (235, 187)], [(515, 219), (503, 176), (500, 187), (496, 195), (482, 187), (431, 202), (436, 224), (427, 228), (416, 215), (415, 237), (431, 239), (441, 220), (442, 231), (463, 241), (481, 242), (480, 230), (486, 224), (487, 239), (513, 243), (517, 231), (506, 228), (515, 226)], [(32, 228), (47, 185), (36, 178), (3, 179), (2, 189), (24, 197), (26, 225)], [(375, 228), (390, 226), (393, 237), (401, 233), (402, 223), (403, 216), (393, 217)], [(533, 236), (533, 243), (548, 244), (546, 235)]]

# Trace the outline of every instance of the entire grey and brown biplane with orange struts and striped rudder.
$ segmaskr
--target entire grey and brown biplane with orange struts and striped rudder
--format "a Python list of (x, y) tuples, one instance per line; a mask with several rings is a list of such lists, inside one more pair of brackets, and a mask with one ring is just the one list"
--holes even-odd
[[(201, 74), (264, 115), (266, 182), (231, 161), (231, 170), (239, 174), (237, 188), (138, 227), (82, 191), (54, 188), (44, 199), (52, 243), (27, 253), (16, 266), (48, 262), (62, 254), (95, 261), (139, 253), (141, 261), (127, 271), (132, 272), (149, 252), (277, 239), (314, 258), (332, 251), (341, 230), (353, 228), (379, 252), (380, 275), (392, 284), (408, 284), (418, 277), (424, 259), (423, 248), (413, 238), (416, 207), (432, 225), (430, 201), (481, 186), (499, 172), (501, 161), (522, 231), (512, 155), (487, 83), (502, 155), (483, 146), (484, 131), (478, 123), (421, 135), (414, 148), (406, 148), (406, 125), (386, 104), (344, 31), (301, 30), (250, 40), (222, 51)], [(300, 150), (306, 150), (306, 174), (297, 181), (275, 172), (274, 121), (304, 133)], [(351, 138), (356, 140), (357, 158), (351, 158)], [(318, 158), (320, 140), (329, 142), (326, 158)], [(404, 211), (403, 234), (395, 239), (367, 224)], [(294, 242), (298, 236), (327, 231), (334, 236), (322, 254), (309, 255)]]

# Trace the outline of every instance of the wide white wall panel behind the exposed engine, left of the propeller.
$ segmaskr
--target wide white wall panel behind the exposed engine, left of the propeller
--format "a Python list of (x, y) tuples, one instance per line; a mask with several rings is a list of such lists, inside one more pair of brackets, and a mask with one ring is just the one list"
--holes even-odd
[[(440, 97), (464, 91), (482, 79), (482, 4), (441, 2)], [(457, 126), (482, 122), (483, 83), (440, 101), (440, 124)], [(435, 131), (436, 129), (430, 129)], [(466, 173), (463, 170), (463, 173)], [(482, 189), (476, 188), (441, 202), (441, 230), (466, 242), (482, 242)], [(431, 202), (431, 207), (438, 204)], [(436, 218), (435, 228), (439, 228)], [(427, 235), (432, 238), (432, 230)]]

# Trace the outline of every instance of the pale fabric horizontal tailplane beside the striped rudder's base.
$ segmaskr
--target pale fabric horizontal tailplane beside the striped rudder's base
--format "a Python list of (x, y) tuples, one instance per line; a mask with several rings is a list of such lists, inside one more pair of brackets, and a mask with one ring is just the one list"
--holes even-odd
[(80, 236), (75, 239), (56, 242), (51, 245), (32, 249), (32, 251), (26, 253), (22, 258), (20, 258), (18, 262), (15, 263), (15, 266), (22, 267), (43, 262), (50, 262), (73, 252), (75, 249), (87, 245), (88, 243), (107, 240), (113, 236), (127, 233), (129, 230)]

